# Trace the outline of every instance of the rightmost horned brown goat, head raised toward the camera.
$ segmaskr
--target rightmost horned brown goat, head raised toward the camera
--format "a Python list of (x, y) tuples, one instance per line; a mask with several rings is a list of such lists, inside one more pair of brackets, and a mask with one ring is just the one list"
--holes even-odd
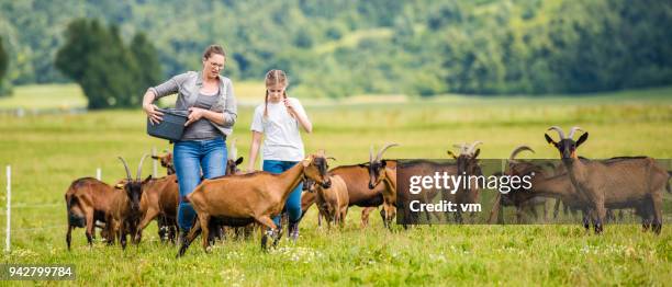
[(587, 209), (596, 233), (603, 231), (605, 206), (635, 208), (646, 215), (652, 210), (652, 230), (660, 233), (662, 190), (669, 177), (667, 170), (649, 157), (626, 158), (612, 162), (579, 159), (576, 149), (587, 139), (587, 131), (574, 141), (574, 133), (581, 130), (580, 127), (572, 127), (568, 137), (558, 126), (552, 126), (548, 130), (556, 130), (560, 136), (560, 139), (555, 141), (545, 134), (546, 140), (560, 152), (572, 185), (589, 203)]

